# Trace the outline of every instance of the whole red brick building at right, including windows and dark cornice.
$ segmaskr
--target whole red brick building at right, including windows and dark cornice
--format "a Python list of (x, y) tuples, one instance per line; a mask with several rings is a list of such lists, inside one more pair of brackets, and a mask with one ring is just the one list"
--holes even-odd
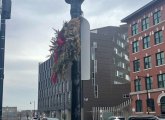
[(165, 114), (165, 0), (152, 0), (121, 21), (129, 25), (132, 111)]

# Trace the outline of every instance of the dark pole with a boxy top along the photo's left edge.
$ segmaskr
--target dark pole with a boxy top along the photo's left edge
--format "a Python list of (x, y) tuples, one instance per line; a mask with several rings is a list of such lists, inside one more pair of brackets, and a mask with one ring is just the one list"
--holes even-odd
[(0, 27), (0, 120), (2, 120), (3, 103), (3, 80), (4, 80), (4, 58), (5, 58), (5, 23), (10, 19), (11, 0), (1, 0), (1, 27)]

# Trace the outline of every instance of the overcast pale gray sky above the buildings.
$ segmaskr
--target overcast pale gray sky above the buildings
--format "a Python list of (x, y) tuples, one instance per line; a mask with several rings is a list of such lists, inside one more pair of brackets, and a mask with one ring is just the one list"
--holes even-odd
[[(151, 0), (84, 0), (82, 11), (91, 29), (119, 26), (120, 20)], [(54, 29), (70, 20), (65, 0), (12, 0), (6, 21), (3, 106), (37, 108), (38, 64), (48, 59)], [(30, 104), (30, 102), (32, 104)]]

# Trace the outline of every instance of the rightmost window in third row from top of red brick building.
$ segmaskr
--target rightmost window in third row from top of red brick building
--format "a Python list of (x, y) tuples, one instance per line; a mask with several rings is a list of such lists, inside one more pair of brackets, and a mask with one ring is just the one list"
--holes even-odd
[(156, 65), (164, 64), (164, 52), (156, 53)]

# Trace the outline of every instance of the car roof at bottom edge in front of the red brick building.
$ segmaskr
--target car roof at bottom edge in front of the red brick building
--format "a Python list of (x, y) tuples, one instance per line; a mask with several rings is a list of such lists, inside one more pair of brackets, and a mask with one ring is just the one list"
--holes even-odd
[(163, 120), (154, 115), (134, 115), (128, 117), (128, 120)]

